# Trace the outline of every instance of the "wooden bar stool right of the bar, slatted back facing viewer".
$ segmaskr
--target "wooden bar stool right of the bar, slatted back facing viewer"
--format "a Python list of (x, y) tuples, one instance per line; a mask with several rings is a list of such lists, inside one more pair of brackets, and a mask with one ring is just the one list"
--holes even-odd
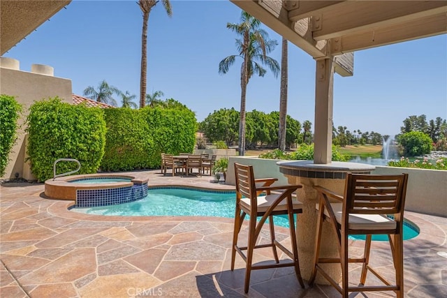
[[(314, 269), (309, 281), (313, 284), (317, 272), (320, 272), (343, 297), (349, 292), (393, 290), (397, 297), (404, 297), (404, 260), (402, 229), (404, 204), (408, 174), (370, 175), (346, 174), (344, 196), (337, 195), (321, 186), (314, 186), (320, 196), (315, 241)], [(331, 203), (329, 200), (338, 200)], [(320, 258), (321, 230), (323, 221), (329, 221), (337, 232), (339, 258)], [(365, 251), (362, 258), (349, 258), (349, 234), (366, 234)], [(373, 234), (388, 234), (395, 284), (393, 285), (376, 270), (369, 266), (369, 251)], [(349, 284), (348, 263), (362, 263), (360, 284)], [(321, 264), (336, 263), (342, 266), (342, 286), (325, 273)], [(384, 285), (365, 285), (367, 271), (371, 271)]]

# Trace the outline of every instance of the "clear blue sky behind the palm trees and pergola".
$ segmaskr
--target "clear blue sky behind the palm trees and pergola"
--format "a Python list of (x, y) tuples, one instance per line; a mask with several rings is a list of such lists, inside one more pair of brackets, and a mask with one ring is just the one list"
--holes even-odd
[[(227, 22), (240, 22), (230, 1), (171, 1), (168, 17), (161, 3), (149, 16), (147, 92), (161, 90), (196, 112), (202, 121), (223, 107), (240, 109), (240, 64), (219, 75), (219, 61), (237, 54), (235, 33)], [(142, 16), (135, 0), (72, 1), (4, 57), (54, 67), (54, 75), (72, 80), (82, 95), (102, 80), (137, 98), (140, 92)], [(270, 54), (281, 61), (279, 45)], [(314, 124), (315, 61), (295, 45), (288, 47), (288, 114)], [(138, 100), (135, 100), (138, 101)], [(253, 77), (247, 111), (279, 110), (279, 77)], [(410, 115), (427, 121), (447, 119), (447, 37), (412, 40), (356, 52), (353, 77), (335, 75), (334, 125), (351, 132), (400, 132)]]

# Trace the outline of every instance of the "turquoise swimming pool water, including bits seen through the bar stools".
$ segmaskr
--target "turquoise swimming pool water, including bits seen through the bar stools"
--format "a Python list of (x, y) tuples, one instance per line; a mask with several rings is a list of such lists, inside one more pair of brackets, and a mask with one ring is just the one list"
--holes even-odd
[[(149, 188), (147, 196), (135, 202), (103, 207), (73, 208), (73, 211), (105, 216), (220, 216), (234, 218), (235, 201), (234, 192), (215, 193), (186, 188)], [(274, 216), (274, 224), (288, 228), (287, 216)], [(416, 237), (418, 234), (416, 225), (404, 221), (404, 240)], [(350, 235), (349, 237), (365, 239), (365, 235)], [(374, 235), (372, 239), (388, 241), (388, 236)]]

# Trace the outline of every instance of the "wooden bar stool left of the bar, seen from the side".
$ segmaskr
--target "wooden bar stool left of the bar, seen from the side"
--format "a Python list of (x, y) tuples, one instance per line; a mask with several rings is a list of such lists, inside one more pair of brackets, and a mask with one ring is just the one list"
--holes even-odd
[[(295, 274), (302, 288), (305, 284), (302, 281), (300, 273), (300, 263), (298, 261), (298, 247), (295, 235), (295, 218), (294, 214), (302, 213), (302, 204), (292, 199), (292, 194), (302, 186), (300, 185), (283, 185), (283, 186), (265, 186), (271, 184), (269, 179), (254, 179), (254, 171), (252, 165), (241, 165), (235, 163), (236, 175), (236, 211), (235, 224), (233, 230), (233, 245), (231, 246), (231, 271), (235, 268), (236, 252), (240, 254), (246, 262), (244, 291), (249, 291), (251, 270), (268, 269), (275, 267), (294, 267)], [(273, 179), (276, 181), (277, 179)], [(256, 184), (263, 184), (256, 187)], [(272, 193), (277, 191), (277, 193)], [(265, 192), (265, 195), (258, 196), (258, 193)], [(239, 233), (242, 223), (246, 215), (249, 215), (248, 241), (247, 246), (238, 244)], [(291, 237), (292, 251), (277, 241), (274, 233), (273, 216), (279, 214), (288, 215), (289, 231)], [(261, 220), (257, 221), (258, 216)], [(265, 221), (268, 219), (270, 227), (270, 243), (258, 244), (257, 239)], [(273, 264), (252, 264), (254, 258), (254, 249), (272, 247), (274, 258)], [(291, 260), (281, 260), (279, 262), (277, 248), (283, 251)], [(247, 251), (247, 253), (244, 253)]]

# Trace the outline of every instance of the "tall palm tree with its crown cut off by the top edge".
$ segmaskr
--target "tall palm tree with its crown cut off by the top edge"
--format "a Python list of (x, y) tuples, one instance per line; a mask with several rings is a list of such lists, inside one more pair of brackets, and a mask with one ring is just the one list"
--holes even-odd
[[(149, 13), (152, 8), (159, 3), (159, 0), (139, 0), (138, 5), (142, 11), (142, 34), (141, 34), (141, 73), (140, 73), (140, 107), (146, 105), (146, 84), (147, 84), (147, 23)], [(173, 15), (169, 0), (161, 0), (163, 7), (169, 16)]]

